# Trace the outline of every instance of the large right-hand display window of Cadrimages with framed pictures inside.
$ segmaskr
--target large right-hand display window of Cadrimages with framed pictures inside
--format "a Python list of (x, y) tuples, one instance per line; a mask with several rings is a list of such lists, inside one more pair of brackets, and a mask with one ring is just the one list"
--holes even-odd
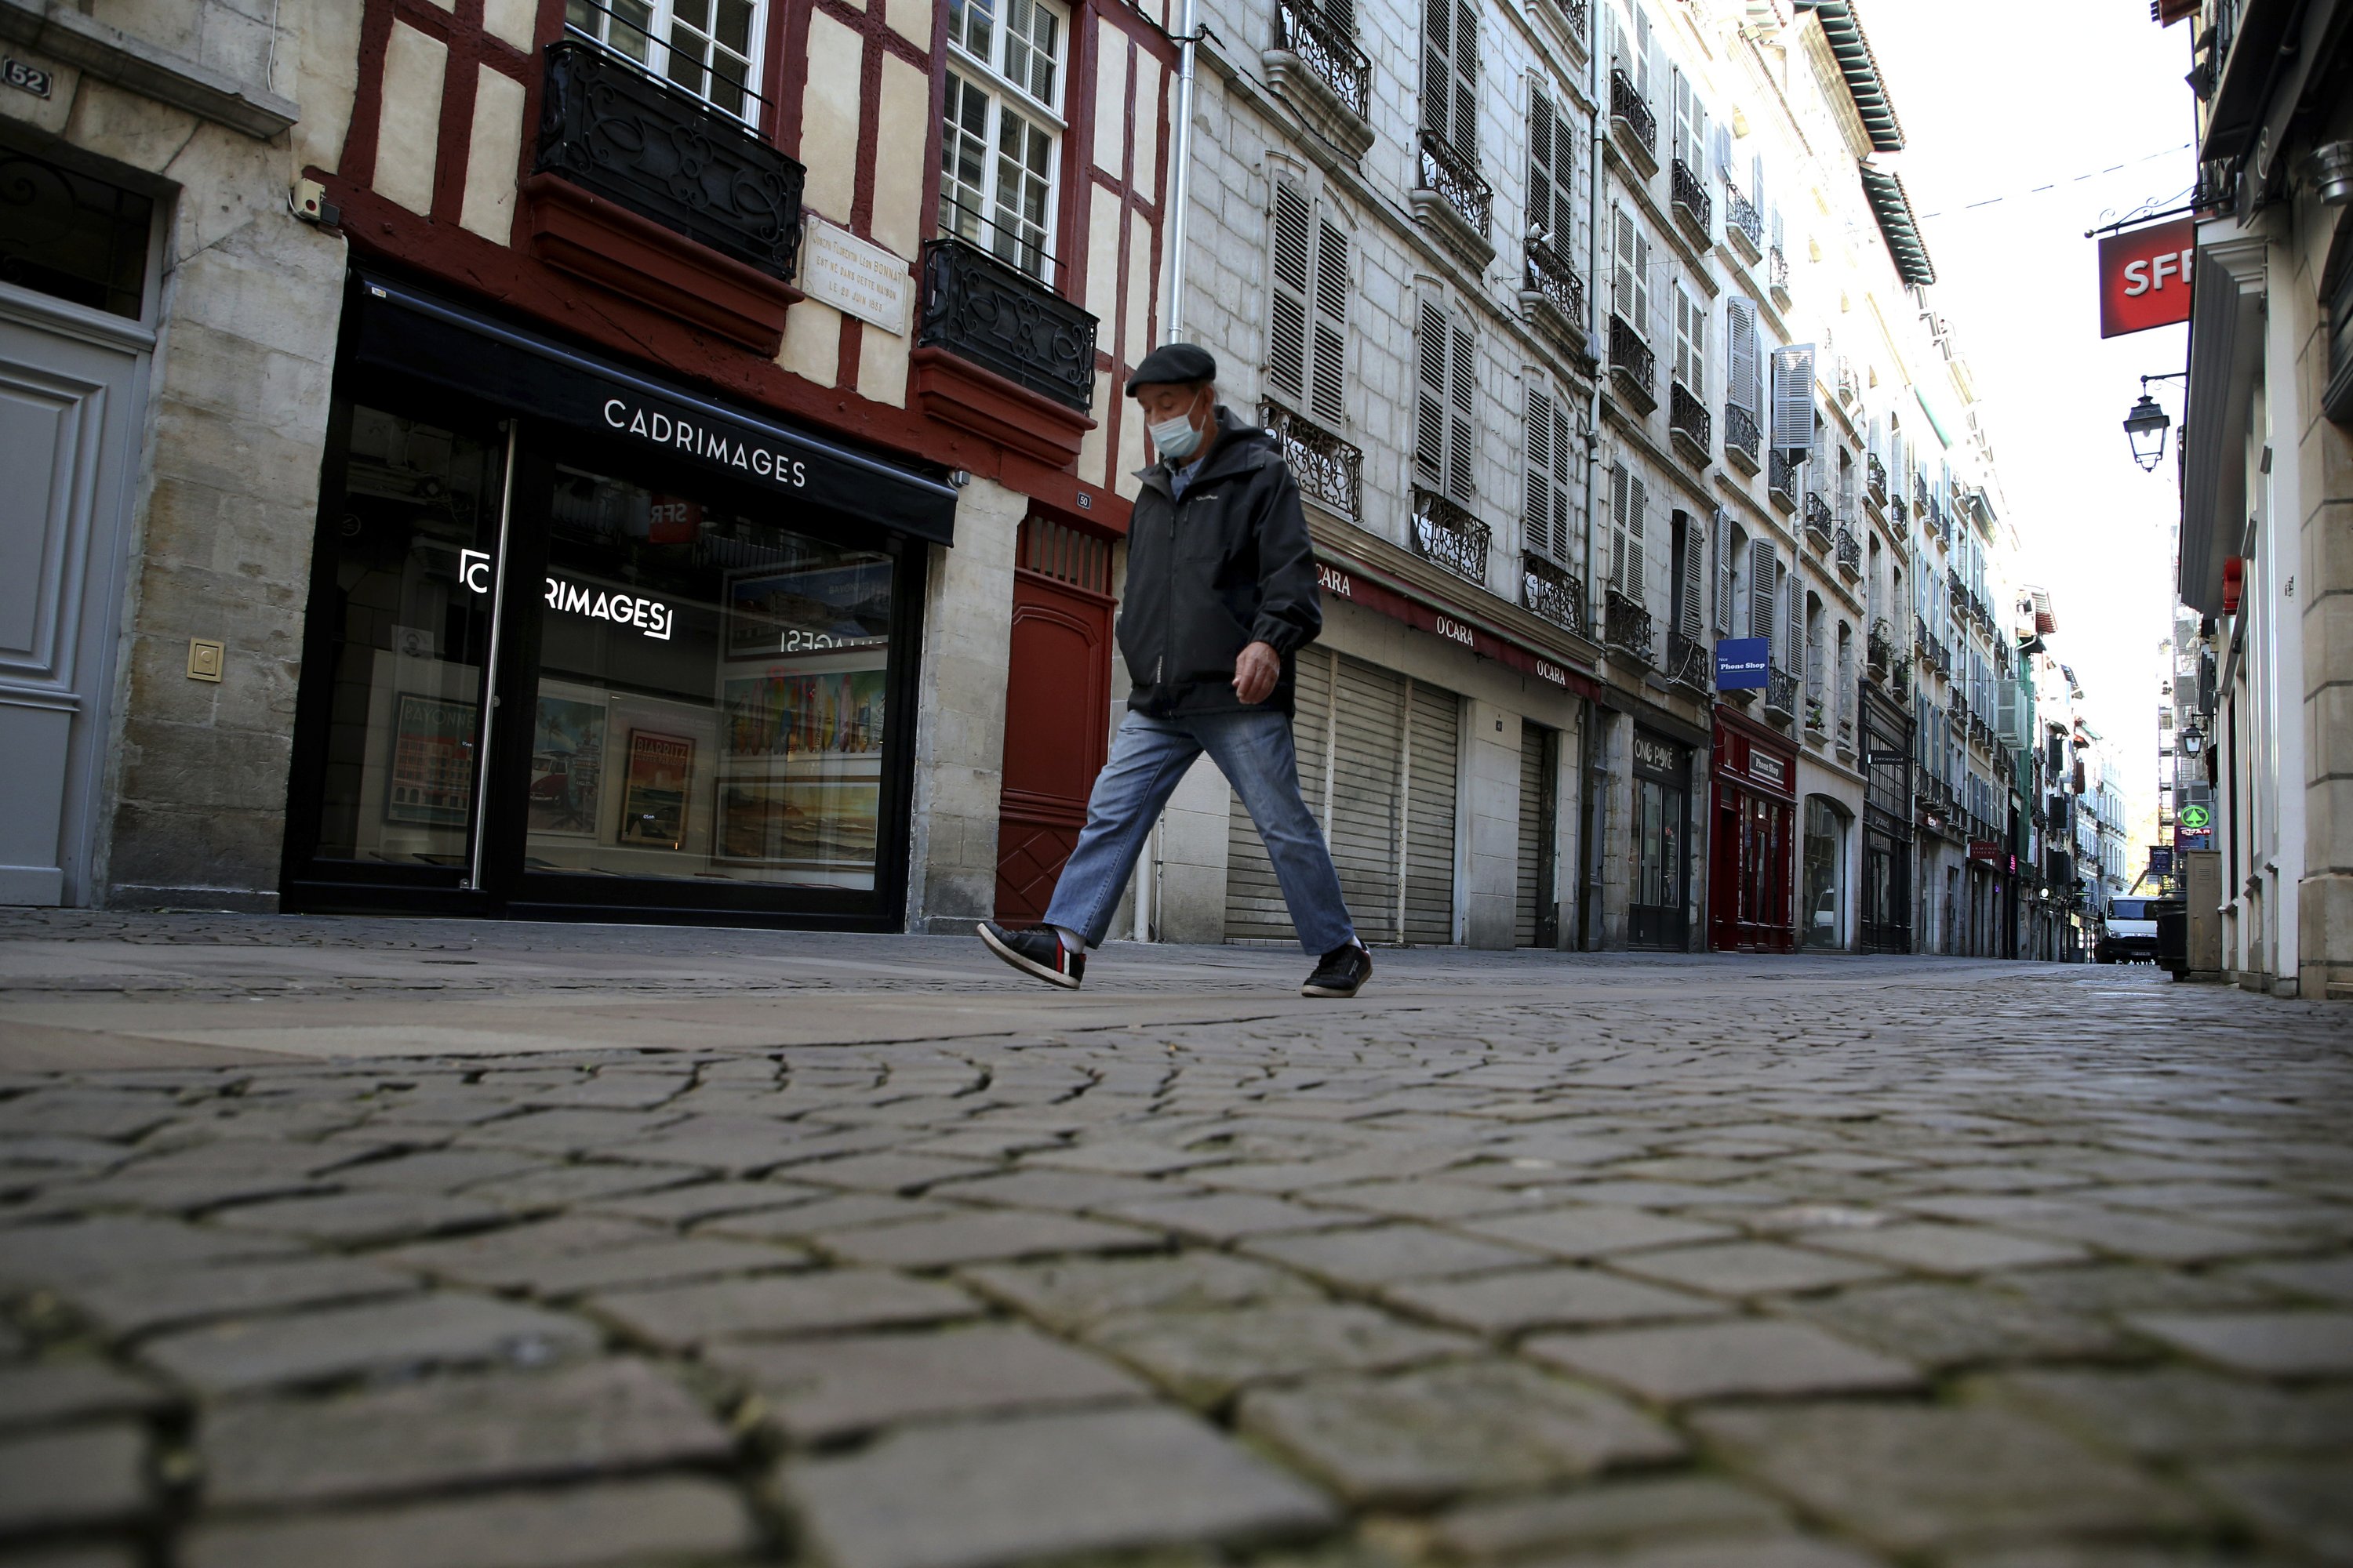
[(873, 889), (892, 559), (555, 470), (527, 865)]

